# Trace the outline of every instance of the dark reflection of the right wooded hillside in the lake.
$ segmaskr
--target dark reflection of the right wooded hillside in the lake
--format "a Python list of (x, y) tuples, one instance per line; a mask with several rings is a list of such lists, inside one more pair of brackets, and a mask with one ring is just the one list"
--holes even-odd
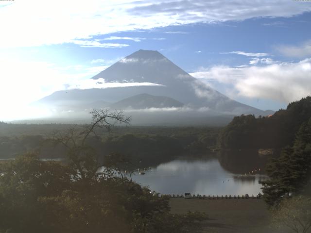
[(269, 158), (259, 156), (258, 150), (222, 150), (218, 153), (219, 163), (224, 169), (247, 175), (263, 174)]

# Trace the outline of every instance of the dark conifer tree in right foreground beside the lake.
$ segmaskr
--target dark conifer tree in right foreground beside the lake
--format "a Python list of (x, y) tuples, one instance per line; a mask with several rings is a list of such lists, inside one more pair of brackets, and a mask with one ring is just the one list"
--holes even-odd
[(264, 198), (270, 206), (278, 205), (282, 197), (296, 195), (311, 178), (311, 118), (296, 134), (294, 146), (284, 148), (266, 168), (269, 179), (262, 181)]

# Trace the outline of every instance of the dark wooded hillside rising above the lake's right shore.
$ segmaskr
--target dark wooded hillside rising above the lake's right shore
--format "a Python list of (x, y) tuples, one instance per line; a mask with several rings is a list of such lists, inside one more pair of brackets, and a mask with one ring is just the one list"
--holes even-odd
[(236, 116), (221, 131), (222, 149), (283, 148), (293, 145), (294, 135), (311, 117), (311, 97), (290, 103), (273, 116)]

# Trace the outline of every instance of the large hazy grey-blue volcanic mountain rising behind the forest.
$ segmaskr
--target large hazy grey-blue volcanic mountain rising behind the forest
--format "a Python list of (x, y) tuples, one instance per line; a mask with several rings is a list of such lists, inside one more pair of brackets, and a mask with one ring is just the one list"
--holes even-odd
[[(89, 108), (97, 107), (94, 102), (98, 101), (105, 103), (102, 104), (103, 107), (107, 105), (119, 106), (120, 108), (129, 106), (132, 106), (132, 108), (160, 108), (159, 103), (162, 100), (155, 97), (163, 97), (168, 98), (165, 106), (175, 107), (175, 105), (181, 106), (180, 104), (183, 104), (188, 109), (197, 110), (196, 114), (201, 117), (236, 116), (241, 114), (267, 116), (273, 114), (273, 111), (262, 111), (231, 100), (207, 86), (207, 84), (190, 76), (157, 51), (138, 50), (106, 68), (92, 79), (97, 80), (100, 78), (104, 79), (105, 83), (155, 83), (159, 85), (57, 91), (39, 100), (39, 103), (49, 104), (53, 109), (62, 111), (70, 109), (70, 105), (72, 109), (77, 109), (81, 105), (83, 106), (81, 110), (85, 109), (85, 106), (89, 106)], [(147, 95), (140, 96), (143, 93)], [(151, 98), (150, 96), (154, 97)], [(144, 100), (142, 101), (142, 99)], [(136, 101), (138, 103), (135, 103)], [(112, 103), (115, 103), (115, 105)], [(65, 105), (66, 109), (64, 109)]]

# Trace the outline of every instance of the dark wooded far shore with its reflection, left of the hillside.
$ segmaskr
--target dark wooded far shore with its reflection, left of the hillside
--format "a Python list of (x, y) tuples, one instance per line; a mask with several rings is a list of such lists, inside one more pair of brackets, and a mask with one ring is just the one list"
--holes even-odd
[(216, 144), (217, 133), (148, 135), (123, 134), (103, 140), (104, 154), (118, 152), (145, 166), (170, 161), (182, 155), (207, 155)]

